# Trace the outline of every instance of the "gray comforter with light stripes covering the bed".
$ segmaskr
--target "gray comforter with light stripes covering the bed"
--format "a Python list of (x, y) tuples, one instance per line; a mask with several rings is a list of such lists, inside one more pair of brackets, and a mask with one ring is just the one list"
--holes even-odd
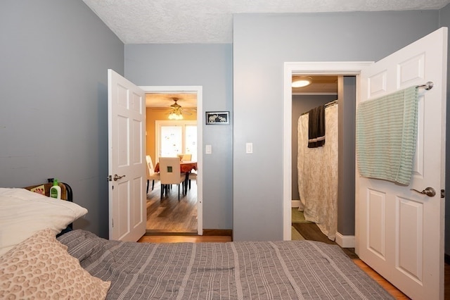
[(58, 237), (107, 299), (392, 299), (339, 246), (310, 241), (152, 244)]

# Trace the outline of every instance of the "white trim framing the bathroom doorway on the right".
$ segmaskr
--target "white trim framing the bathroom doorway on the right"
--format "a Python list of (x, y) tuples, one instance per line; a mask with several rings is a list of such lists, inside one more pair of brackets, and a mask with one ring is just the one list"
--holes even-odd
[[(359, 97), (359, 74), (373, 61), (285, 62), (283, 67), (283, 239), (291, 237), (292, 204), (292, 76), (293, 75), (353, 75), (356, 76), (356, 98)], [(355, 211), (357, 211), (357, 202)], [(358, 218), (355, 215), (355, 237)], [(338, 232), (337, 235), (338, 236)], [(339, 240), (336, 239), (339, 244)], [(342, 239), (341, 239), (342, 242)], [(343, 246), (340, 244), (340, 246)]]

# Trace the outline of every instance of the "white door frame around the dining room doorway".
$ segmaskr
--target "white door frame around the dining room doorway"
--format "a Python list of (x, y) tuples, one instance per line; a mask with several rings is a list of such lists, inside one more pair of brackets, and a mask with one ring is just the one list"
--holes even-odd
[(203, 87), (202, 86), (140, 86), (146, 93), (197, 94), (197, 234), (203, 235)]

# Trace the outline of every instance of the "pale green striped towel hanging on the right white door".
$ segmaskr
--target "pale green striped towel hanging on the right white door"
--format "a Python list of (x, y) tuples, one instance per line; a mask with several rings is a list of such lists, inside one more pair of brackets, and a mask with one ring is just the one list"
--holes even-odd
[(416, 152), (418, 88), (368, 100), (356, 111), (356, 157), (364, 177), (409, 185)]

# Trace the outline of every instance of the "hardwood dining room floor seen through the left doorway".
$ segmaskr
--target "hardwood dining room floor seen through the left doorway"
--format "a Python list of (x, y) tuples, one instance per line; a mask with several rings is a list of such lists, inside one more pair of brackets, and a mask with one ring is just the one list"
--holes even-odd
[(155, 182), (155, 188), (150, 188), (147, 194), (147, 234), (160, 233), (197, 233), (197, 185), (191, 181), (191, 189), (186, 195), (180, 187), (180, 200), (178, 200), (178, 187), (172, 186), (167, 196), (160, 199), (160, 183)]

